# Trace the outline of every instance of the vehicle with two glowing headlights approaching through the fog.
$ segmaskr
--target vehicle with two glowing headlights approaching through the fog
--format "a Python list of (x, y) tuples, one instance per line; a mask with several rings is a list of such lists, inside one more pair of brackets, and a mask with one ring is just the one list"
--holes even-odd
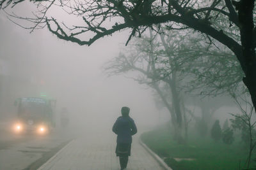
[(56, 100), (38, 97), (22, 97), (15, 101), (17, 121), (13, 130), (17, 133), (47, 134), (55, 127)]

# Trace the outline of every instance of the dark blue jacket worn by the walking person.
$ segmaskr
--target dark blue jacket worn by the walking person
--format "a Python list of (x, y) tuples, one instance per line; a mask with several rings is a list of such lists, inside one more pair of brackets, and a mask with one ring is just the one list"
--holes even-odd
[(131, 117), (118, 117), (112, 131), (117, 134), (116, 143), (132, 143), (132, 135), (137, 133), (137, 127)]

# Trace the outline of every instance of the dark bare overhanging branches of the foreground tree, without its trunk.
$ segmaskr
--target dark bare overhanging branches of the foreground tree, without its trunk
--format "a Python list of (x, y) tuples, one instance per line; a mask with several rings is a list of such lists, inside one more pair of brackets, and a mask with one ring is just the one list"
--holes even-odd
[[(3, 6), (6, 0), (1, 0)], [(22, 1), (22, 0), (21, 0)], [(6, 4), (21, 2), (10, 0)], [(230, 0), (90, 0), (90, 1), (34, 1), (38, 5), (39, 14), (35, 16), (35, 26), (47, 24), (49, 30), (58, 38), (73, 41), (79, 45), (91, 45), (94, 41), (113, 32), (131, 28), (131, 36), (140, 36), (152, 24), (165, 24), (170, 29), (193, 28), (218, 39), (236, 53), (241, 53), (234, 29), (227, 25), (239, 27), (237, 13)], [(60, 6), (63, 10), (83, 19), (84, 24), (67, 27), (60, 24), (54, 16), (47, 15), (52, 6)], [(122, 20), (120, 20), (122, 18)], [(54, 27), (55, 26), (55, 27)], [(69, 29), (68, 29), (69, 28)], [(68, 29), (68, 30), (67, 30)], [(88, 39), (77, 38), (85, 32), (93, 33)], [(231, 34), (230, 34), (231, 33)], [(236, 35), (236, 33), (235, 33)]]

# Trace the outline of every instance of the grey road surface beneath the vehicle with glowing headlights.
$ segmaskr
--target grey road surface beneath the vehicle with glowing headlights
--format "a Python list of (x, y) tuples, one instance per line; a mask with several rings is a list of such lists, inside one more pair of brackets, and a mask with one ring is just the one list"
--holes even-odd
[(0, 170), (36, 169), (60, 150), (68, 136), (13, 136), (0, 134)]

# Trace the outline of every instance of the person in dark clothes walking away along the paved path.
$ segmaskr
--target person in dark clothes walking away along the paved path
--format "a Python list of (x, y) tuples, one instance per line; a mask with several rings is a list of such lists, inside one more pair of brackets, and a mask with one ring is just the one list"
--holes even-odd
[(129, 117), (130, 108), (122, 107), (122, 117), (118, 117), (112, 131), (117, 134), (116, 157), (119, 157), (121, 170), (125, 169), (131, 155), (132, 135), (137, 133), (134, 120)]

